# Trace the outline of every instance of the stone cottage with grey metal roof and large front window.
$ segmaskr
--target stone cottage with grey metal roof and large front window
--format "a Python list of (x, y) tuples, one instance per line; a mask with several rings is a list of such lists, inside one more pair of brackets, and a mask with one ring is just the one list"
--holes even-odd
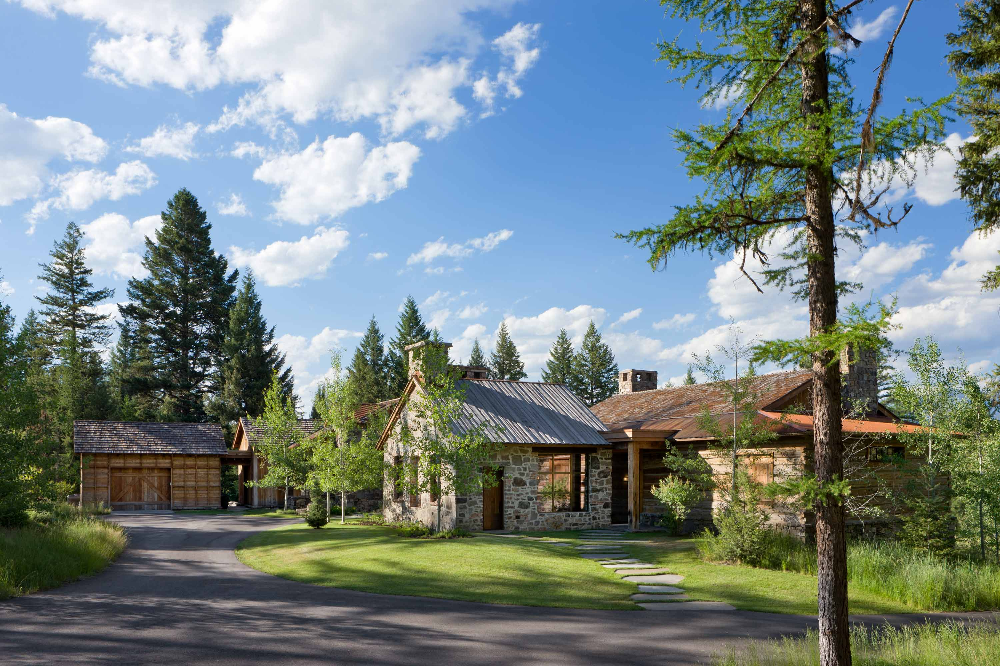
[[(403, 443), (404, 424), (414, 426), (414, 401), (423, 398), (419, 355), (430, 344), (406, 348), (410, 378), (395, 405), (379, 446), (387, 466), (405, 465), (420, 450)], [(611, 448), (604, 424), (562, 384), (485, 379), (485, 368), (459, 366), (465, 391), (456, 428), (486, 426), (503, 448), (489, 462), (498, 484), (469, 496), (409, 496), (397, 492), (393, 475), (383, 488), (389, 521), (418, 521), (469, 530), (561, 530), (611, 524)], [(497, 439), (499, 438), (499, 439)]]

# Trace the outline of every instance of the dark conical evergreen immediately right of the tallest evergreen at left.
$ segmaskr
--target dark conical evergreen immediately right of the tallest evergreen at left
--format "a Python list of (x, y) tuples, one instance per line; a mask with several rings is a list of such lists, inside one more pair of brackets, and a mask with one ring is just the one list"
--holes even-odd
[(285, 397), (291, 397), (292, 369), (274, 342), (274, 327), (267, 325), (252, 272), (243, 277), (229, 308), (229, 326), (222, 342), (222, 392), (213, 403), (213, 415), (224, 425), (242, 416), (264, 412), (264, 394), (271, 377), (278, 376)]

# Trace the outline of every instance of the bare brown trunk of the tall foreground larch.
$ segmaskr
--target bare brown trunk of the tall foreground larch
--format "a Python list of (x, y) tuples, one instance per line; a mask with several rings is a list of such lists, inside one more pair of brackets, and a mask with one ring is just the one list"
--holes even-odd
[[(810, 31), (803, 52), (802, 114), (809, 128), (822, 127), (829, 103), (829, 71), (823, 51), (826, 21), (824, 0), (800, 0), (801, 26)], [(816, 32), (813, 32), (813, 31)], [(810, 122), (809, 117), (816, 116)], [(827, 134), (829, 137), (829, 134)], [(837, 277), (834, 267), (833, 173), (825, 165), (829, 139), (821, 144), (805, 169), (806, 239), (808, 244), (809, 333), (828, 331), (837, 321)], [(816, 476), (826, 484), (844, 477), (841, 434), (840, 368), (836, 352), (824, 350), (812, 359), (813, 438)], [(850, 666), (850, 626), (847, 620), (847, 543), (844, 505), (827, 496), (816, 506), (818, 563), (819, 651), (823, 666)]]

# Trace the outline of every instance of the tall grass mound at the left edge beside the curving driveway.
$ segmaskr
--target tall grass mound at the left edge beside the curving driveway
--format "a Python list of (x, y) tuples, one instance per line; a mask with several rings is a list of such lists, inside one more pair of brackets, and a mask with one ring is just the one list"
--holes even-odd
[(0, 529), (0, 599), (31, 594), (97, 573), (125, 549), (113, 523), (66, 511)]

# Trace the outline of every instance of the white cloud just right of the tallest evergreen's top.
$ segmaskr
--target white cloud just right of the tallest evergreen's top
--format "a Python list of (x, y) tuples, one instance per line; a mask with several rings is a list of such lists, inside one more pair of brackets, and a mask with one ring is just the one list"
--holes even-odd
[(260, 252), (230, 247), (236, 266), (249, 266), (269, 287), (297, 286), (306, 278), (326, 275), (330, 264), (348, 245), (343, 229), (317, 227), (313, 236), (297, 241), (275, 241)]

